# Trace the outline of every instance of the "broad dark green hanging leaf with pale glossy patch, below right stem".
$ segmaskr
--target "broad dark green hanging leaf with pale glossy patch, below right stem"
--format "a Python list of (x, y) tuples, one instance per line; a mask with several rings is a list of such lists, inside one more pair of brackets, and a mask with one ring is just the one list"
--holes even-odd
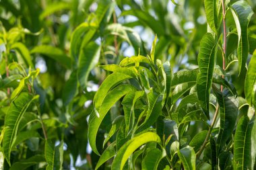
[(219, 154), (226, 140), (232, 135), (236, 124), (238, 101), (234, 97), (230, 97), (228, 90), (221, 92), (218, 89), (214, 89), (214, 93), (220, 105), (220, 132), (216, 143), (217, 154)]

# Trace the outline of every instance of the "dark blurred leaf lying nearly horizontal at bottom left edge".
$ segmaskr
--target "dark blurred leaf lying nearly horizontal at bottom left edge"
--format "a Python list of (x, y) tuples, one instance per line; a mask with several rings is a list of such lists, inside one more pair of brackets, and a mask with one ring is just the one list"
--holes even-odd
[(36, 165), (38, 163), (42, 163), (44, 161), (45, 159), (43, 155), (34, 155), (33, 157), (30, 157), (26, 160), (13, 163), (13, 165), (11, 165), (10, 167), (10, 170), (28, 169), (28, 167), (31, 167), (32, 165)]

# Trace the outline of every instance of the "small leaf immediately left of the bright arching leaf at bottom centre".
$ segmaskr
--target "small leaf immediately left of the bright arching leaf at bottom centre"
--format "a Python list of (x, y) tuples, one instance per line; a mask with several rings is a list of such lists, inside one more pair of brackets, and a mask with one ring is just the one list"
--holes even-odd
[(106, 150), (100, 156), (100, 159), (98, 160), (95, 170), (97, 170), (101, 165), (103, 165), (103, 163), (105, 163), (106, 161), (108, 161), (109, 159), (111, 159), (112, 157), (115, 156), (115, 154), (116, 154), (115, 144), (116, 143), (113, 142), (110, 145), (108, 145)]

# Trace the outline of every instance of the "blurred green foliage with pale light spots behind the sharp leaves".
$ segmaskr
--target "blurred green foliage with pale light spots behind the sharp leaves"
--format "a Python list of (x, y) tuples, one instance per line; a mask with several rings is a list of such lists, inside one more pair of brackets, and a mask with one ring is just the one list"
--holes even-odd
[[(0, 1), (0, 78), (22, 71), (28, 73), (29, 68), (40, 69), (32, 83), (35, 93), (40, 95), (40, 113), (48, 138), (64, 140), (64, 169), (94, 169), (98, 161), (88, 146), (87, 120), (95, 91), (109, 73), (96, 66), (119, 63), (125, 56), (150, 54), (157, 35), (155, 59), (169, 60), (173, 72), (197, 67), (199, 42), (207, 32), (203, 0), (176, 3), (179, 5), (170, 0)], [(256, 1), (248, 3), (256, 12)], [(232, 32), (234, 20), (226, 18)], [(237, 39), (236, 34), (228, 36), (226, 59), (231, 65), (236, 60), (232, 46)], [(250, 43), (254, 44), (250, 49), (255, 49), (255, 15), (249, 23), (249, 41), (255, 42)], [(222, 54), (218, 58), (218, 64), (222, 65)], [(20, 69), (5, 69), (15, 62)], [(237, 67), (232, 67), (230, 73), (237, 77)], [(238, 93), (243, 95), (241, 79), (233, 80)], [(2, 128), (10, 103), (7, 90), (12, 91), (13, 87), (0, 87)], [(119, 112), (117, 103), (101, 125), (102, 135), (98, 140), (104, 140), (104, 130), (110, 129)], [(30, 138), (26, 144), (28, 148), (12, 152), (12, 163), (43, 152), (41, 137)]]

